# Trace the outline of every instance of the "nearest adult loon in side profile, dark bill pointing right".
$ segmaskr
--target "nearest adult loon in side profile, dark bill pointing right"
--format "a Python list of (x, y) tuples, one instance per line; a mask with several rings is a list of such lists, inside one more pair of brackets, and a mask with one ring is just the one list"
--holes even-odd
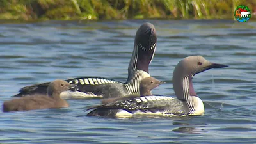
[[(202, 56), (188, 56), (179, 61), (173, 71), (173, 89), (177, 99), (167, 96), (145, 96), (111, 102), (95, 107), (87, 116), (131, 118), (132, 116), (186, 116), (203, 115), (204, 104), (196, 95), (192, 78), (211, 68), (228, 67), (211, 63)], [(100, 112), (100, 113), (99, 113)]]

